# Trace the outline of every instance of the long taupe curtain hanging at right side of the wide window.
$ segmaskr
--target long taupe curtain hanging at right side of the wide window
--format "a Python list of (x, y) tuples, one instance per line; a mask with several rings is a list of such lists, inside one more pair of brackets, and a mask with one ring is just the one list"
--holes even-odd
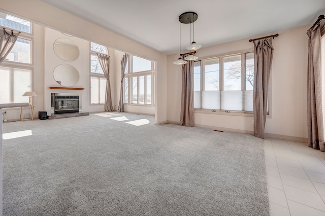
[(254, 41), (254, 136), (262, 139), (264, 139), (272, 58), (272, 38)]

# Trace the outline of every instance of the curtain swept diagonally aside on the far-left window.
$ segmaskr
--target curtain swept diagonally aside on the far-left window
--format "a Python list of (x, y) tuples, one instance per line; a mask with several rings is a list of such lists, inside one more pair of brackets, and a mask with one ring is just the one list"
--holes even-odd
[(13, 30), (8, 33), (5, 28), (0, 30), (0, 63), (3, 62), (6, 56), (10, 53), (19, 34), (20, 32), (14, 33)]

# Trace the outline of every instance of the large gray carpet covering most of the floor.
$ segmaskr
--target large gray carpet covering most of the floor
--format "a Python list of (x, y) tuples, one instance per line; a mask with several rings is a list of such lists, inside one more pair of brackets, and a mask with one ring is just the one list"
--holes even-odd
[(269, 215), (262, 139), (123, 115), (4, 123), (4, 215)]

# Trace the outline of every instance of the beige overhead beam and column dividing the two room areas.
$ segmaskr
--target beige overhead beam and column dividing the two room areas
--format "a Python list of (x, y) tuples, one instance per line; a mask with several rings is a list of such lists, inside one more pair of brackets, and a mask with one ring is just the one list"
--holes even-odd
[[(29, 0), (29, 1), (3, 0), (0, 6), (0, 10), (3, 10), (4, 12), (7, 12), (9, 14), (16, 15), (23, 19), (30, 20), (32, 22), (48, 26), (58, 31), (70, 33), (84, 40), (93, 41), (114, 48), (116, 50), (120, 50), (122, 52), (131, 53), (139, 57), (156, 61), (157, 62), (156, 80), (158, 82), (156, 85), (157, 100), (155, 106), (155, 121), (156, 123), (166, 122), (167, 120), (167, 94), (166, 94), (167, 56), (166, 55), (161, 54), (141, 44), (138, 44), (132, 40), (126, 39), (100, 26), (94, 25), (90, 22), (75, 17), (67, 12), (54, 8), (39, 0)], [(42, 69), (44, 70), (44, 65)], [(116, 71), (114, 70), (114, 73), (115, 72)], [(115, 78), (113, 79), (115, 80)], [(86, 82), (87, 81), (85, 80), (85, 85), (87, 85)], [(114, 89), (118, 88), (117, 86), (115, 86), (116, 85), (115, 83), (112, 85)], [(116, 98), (114, 98), (114, 101), (116, 101)]]

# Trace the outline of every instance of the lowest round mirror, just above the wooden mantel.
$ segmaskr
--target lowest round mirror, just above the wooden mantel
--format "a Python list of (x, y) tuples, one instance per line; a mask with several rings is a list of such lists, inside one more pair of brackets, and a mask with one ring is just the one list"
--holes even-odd
[(61, 86), (74, 86), (79, 81), (78, 70), (70, 64), (60, 64), (55, 67), (53, 77)]

